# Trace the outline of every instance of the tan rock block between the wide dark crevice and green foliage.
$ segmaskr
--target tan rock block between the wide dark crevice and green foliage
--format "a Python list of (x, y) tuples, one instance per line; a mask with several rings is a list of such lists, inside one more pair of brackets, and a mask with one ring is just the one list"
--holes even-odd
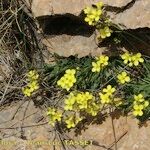
[(52, 53), (57, 53), (60, 56), (78, 55), (83, 57), (89, 54), (100, 55), (103, 50), (100, 49), (94, 40), (94, 35), (85, 37), (81, 35), (60, 35), (43, 39), (43, 43)]

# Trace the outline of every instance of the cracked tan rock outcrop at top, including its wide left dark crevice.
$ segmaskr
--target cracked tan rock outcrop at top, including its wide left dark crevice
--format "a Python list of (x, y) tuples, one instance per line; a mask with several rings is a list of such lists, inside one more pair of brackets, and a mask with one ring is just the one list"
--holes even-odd
[[(89, 35), (89, 31), (86, 30), (80, 34), (79, 30), (83, 29), (85, 25), (76, 26), (77, 22), (80, 24), (83, 21), (83, 18), (79, 16), (82, 10), (99, 0), (33, 0), (32, 3), (29, 3), (29, 0), (26, 1), (28, 1), (34, 16), (40, 21), (45, 34), (42, 41), (50, 53), (57, 53), (65, 57), (77, 54), (82, 57), (89, 54), (99, 55), (106, 50), (106, 48), (97, 46), (94, 32)], [(101, 1), (106, 4), (108, 14), (114, 23), (123, 25), (125, 29), (150, 28), (149, 0)], [(65, 19), (66, 17), (68, 19)], [(70, 21), (72, 23), (67, 24)], [(75, 33), (68, 32), (71, 28)], [(47, 32), (49, 29), (51, 30)], [(59, 33), (60, 30), (62, 30), (61, 33)], [(143, 44), (139, 41), (137, 43)], [(149, 49), (149, 46), (146, 49)], [(147, 54), (147, 50), (145, 52)]]

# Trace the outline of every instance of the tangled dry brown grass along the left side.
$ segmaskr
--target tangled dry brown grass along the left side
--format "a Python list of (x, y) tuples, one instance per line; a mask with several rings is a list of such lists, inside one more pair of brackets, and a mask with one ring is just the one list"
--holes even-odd
[(36, 20), (23, 1), (0, 0), (0, 105), (21, 100), (24, 73), (43, 63)]

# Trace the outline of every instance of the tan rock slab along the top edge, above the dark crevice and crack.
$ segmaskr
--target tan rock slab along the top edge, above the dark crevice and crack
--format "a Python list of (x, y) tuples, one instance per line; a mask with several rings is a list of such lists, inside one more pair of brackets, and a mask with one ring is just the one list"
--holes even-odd
[[(124, 0), (124, 1), (115, 0), (115, 2), (114, 0), (101, 0), (101, 1), (111, 6), (122, 7), (127, 3), (129, 3), (131, 0)], [(69, 1), (33, 0), (31, 4), (31, 9), (35, 17), (66, 14), (66, 13), (78, 16), (81, 13), (82, 9), (96, 2), (99, 2), (99, 0), (69, 0)]]

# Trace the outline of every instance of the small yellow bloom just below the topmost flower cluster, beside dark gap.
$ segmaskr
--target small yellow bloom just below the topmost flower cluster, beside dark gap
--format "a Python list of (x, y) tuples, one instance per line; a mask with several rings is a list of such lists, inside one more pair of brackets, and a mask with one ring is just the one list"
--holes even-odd
[(112, 30), (109, 27), (104, 27), (103, 29), (99, 30), (99, 33), (100, 33), (100, 37), (102, 39), (105, 39), (106, 37), (111, 36)]

